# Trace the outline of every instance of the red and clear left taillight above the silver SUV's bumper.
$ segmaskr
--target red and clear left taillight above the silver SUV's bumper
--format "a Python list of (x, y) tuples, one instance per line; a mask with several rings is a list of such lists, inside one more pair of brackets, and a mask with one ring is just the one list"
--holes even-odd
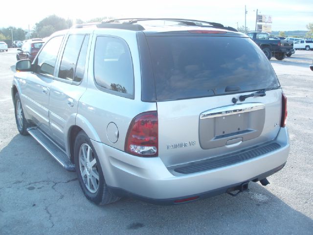
[(125, 151), (140, 157), (155, 157), (158, 149), (157, 112), (149, 111), (132, 120), (126, 140)]

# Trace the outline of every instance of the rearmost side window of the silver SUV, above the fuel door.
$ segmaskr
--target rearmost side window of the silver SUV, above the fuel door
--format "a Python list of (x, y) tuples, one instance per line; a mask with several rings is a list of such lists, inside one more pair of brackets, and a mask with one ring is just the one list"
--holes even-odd
[(121, 96), (134, 94), (134, 71), (131, 52), (118, 38), (98, 36), (94, 51), (94, 79), (102, 88)]

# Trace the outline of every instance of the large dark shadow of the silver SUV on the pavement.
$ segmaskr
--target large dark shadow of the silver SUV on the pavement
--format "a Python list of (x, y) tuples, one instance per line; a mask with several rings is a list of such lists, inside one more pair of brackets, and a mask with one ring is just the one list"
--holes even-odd
[(223, 194), (173, 206), (122, 198), (101, 207), (83, 195), (76, 173), (65, 170), (30, 136), (17, 134), (0, 151), (0, 159), (3, 234), (12, 228), (20, 232), (40, 228), (42, 234), (309, 235), (313, 231), (313, 220), (297, 211), (312, 202), (295, 205), (289, 199), (293, 188), (284, 177), (289, 173), (286, 167), (268, 178), (275, 184), (249, 183), (249, 191), (236, 197)]

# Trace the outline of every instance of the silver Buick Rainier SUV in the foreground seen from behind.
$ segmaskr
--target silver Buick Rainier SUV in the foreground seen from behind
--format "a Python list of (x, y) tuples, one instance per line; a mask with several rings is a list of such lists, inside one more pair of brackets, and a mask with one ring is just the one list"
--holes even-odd
[(287, 100), (262, 50), (222, 24), (123, 19), (54, 33), (16, 63), (17, 127), (86, 197), (179, 204), (286, 164)]

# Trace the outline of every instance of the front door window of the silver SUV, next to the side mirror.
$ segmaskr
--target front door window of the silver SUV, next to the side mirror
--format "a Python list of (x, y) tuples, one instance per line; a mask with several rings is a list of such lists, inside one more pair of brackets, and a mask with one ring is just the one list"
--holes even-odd
[(50, 39), (36, 60), (36, 72), (53, 75), (55, 62), (62, 43), (63, 36)]

